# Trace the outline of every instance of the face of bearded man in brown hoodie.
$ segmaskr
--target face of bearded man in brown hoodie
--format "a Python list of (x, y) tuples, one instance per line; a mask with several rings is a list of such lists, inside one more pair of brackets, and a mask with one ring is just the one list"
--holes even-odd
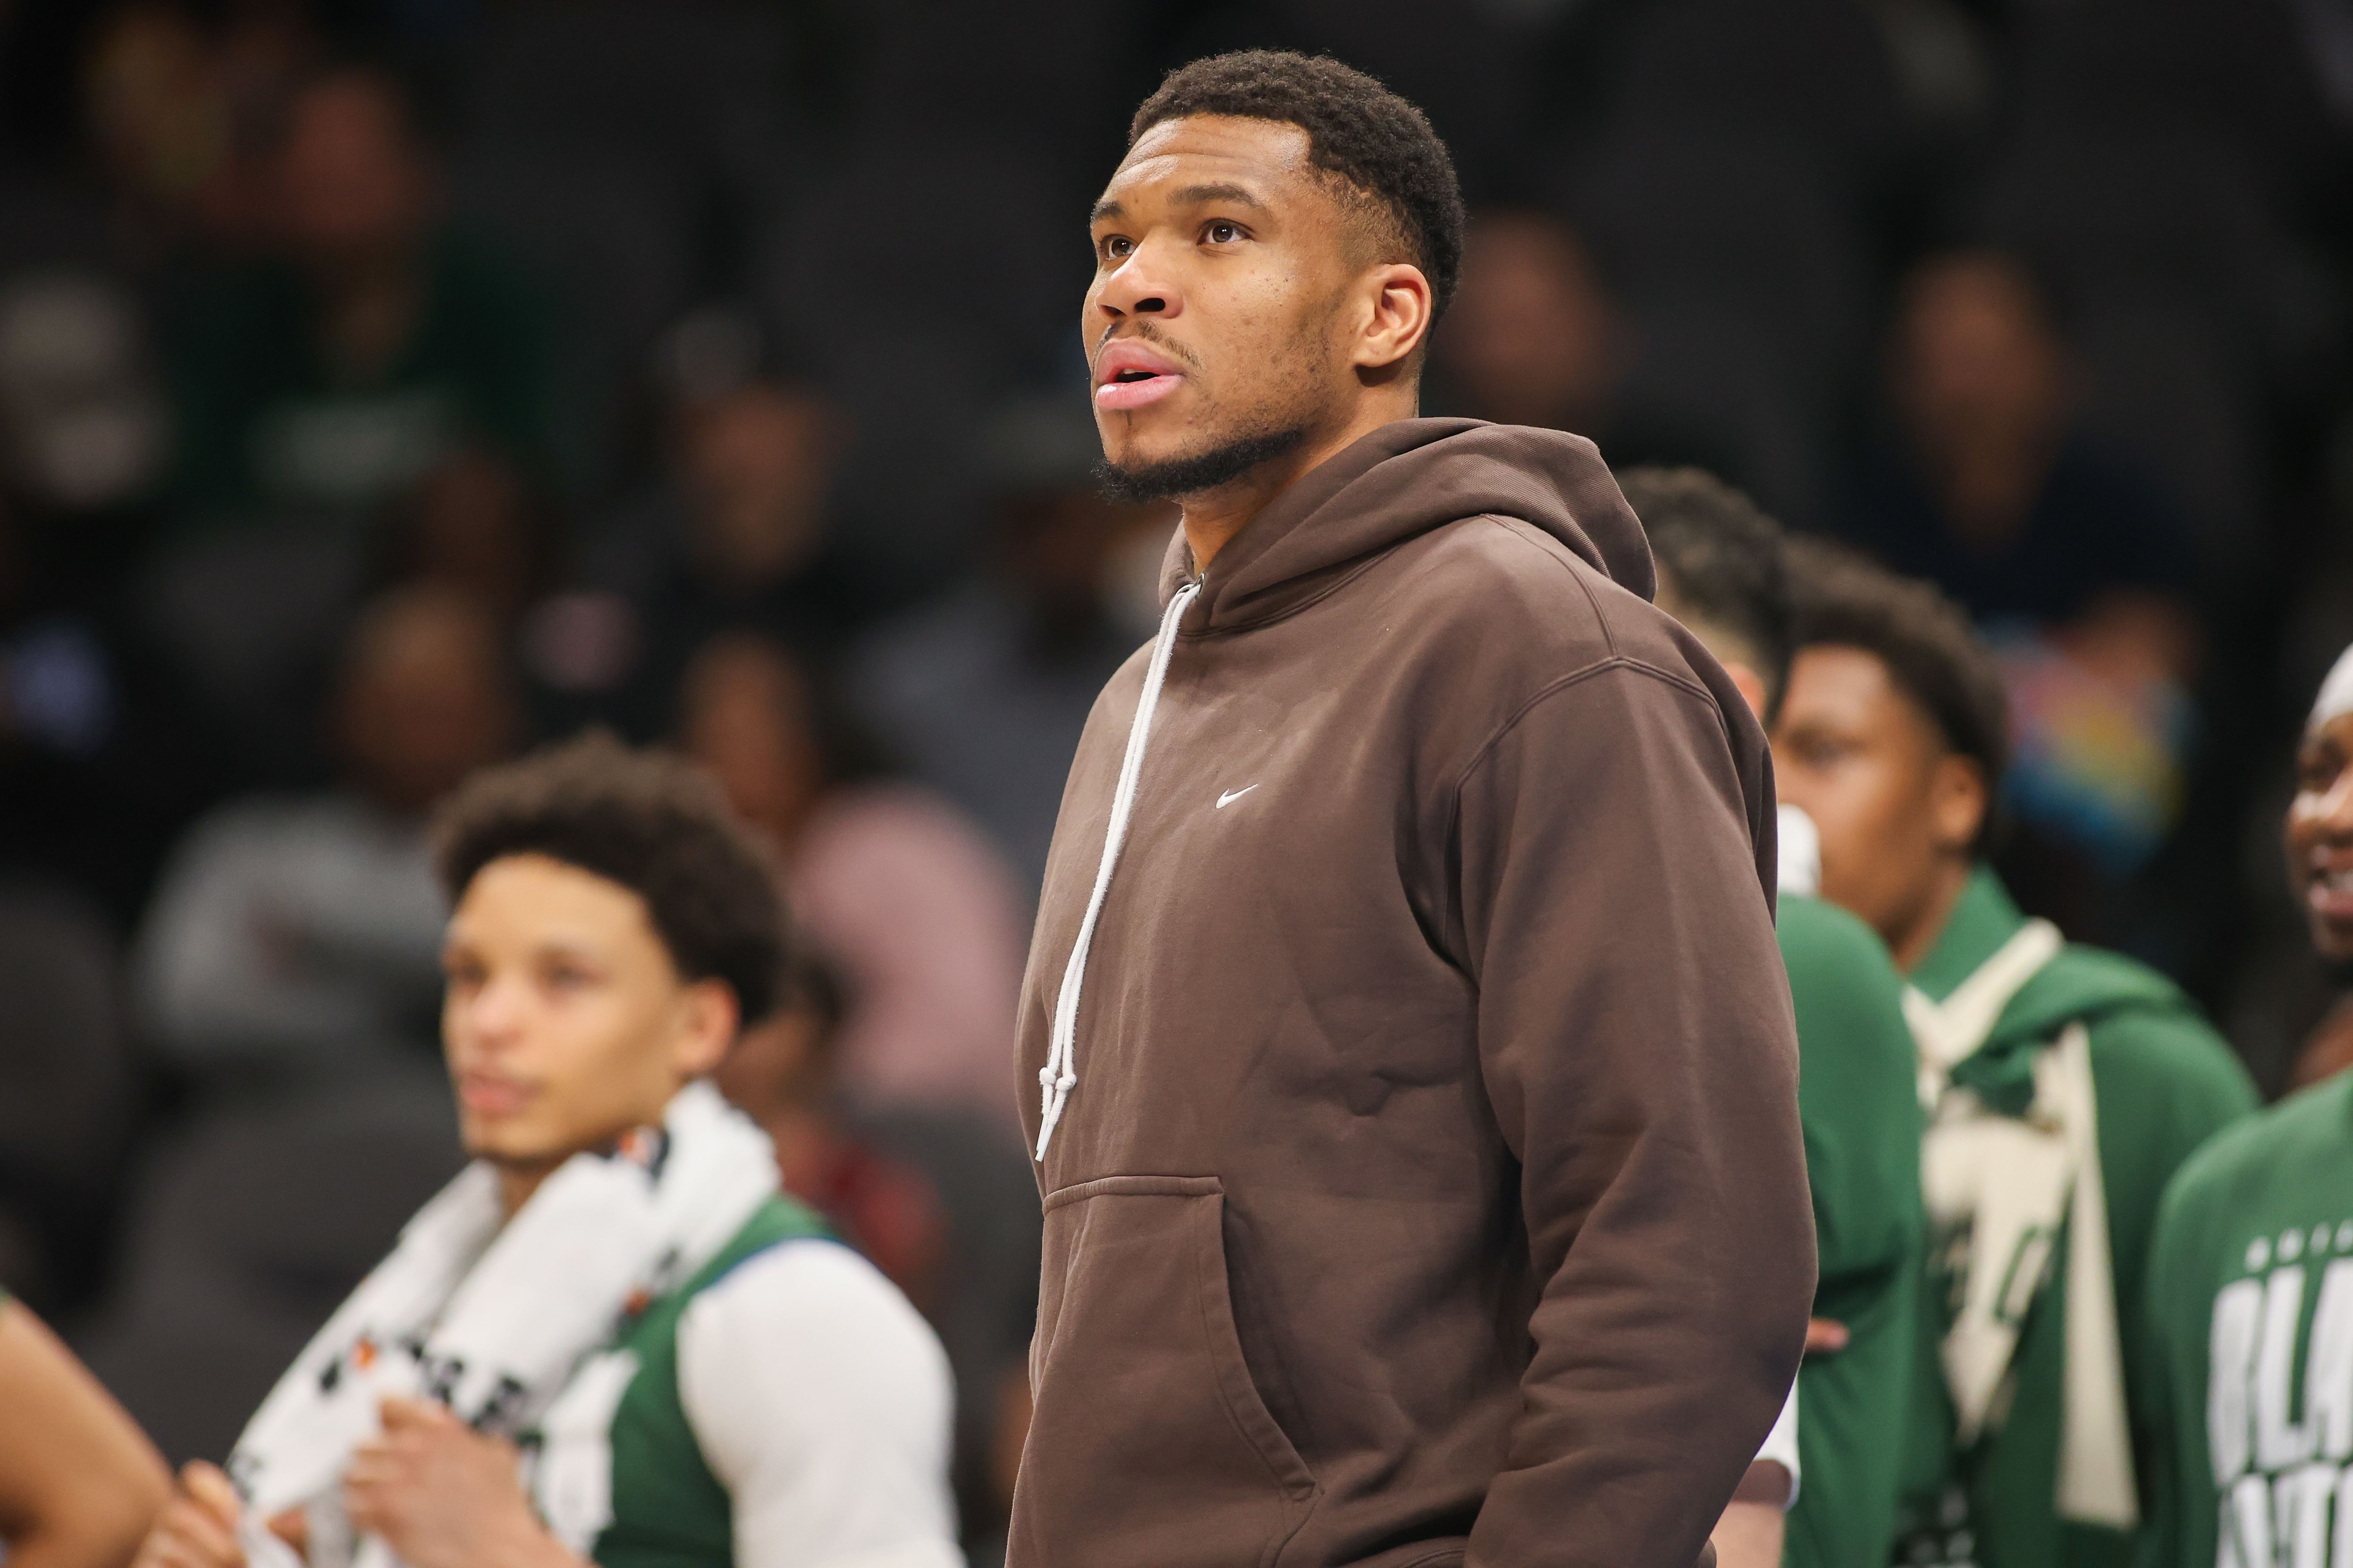
[(1127, 473), (1275, 456), (1332, 423), (1353, 390), (1341, 306), (1365, 263), (1358, 223), (1297, 125), (1193, 115), (1144, 132), (1096, 202), (1080, 313), (1104, 456)]

